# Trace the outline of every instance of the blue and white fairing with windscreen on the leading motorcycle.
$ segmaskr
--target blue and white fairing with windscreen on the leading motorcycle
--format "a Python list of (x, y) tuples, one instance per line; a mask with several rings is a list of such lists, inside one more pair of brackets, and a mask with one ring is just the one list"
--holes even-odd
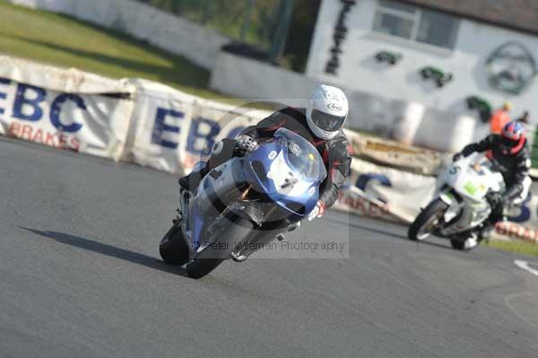
[[(198, 249), (206, 237), (204, 227), (211, 226), (206, 222), (228, 207), (222, 198), (227, 197), (226, 202), (230, 203), (230, 198), (240, 201), (244, 193), (249, 193), (249, 197), (254, 194), (256, 199), (249, 202), (254, 203), (251, 205), (276, 205), (279, 214), (289, 214), (284, 216), (289, 222), (299, 222), (316, 206), (319, 186), (325, 177), (325, 164), (316, 148), (299, 135), (279, 129), (275, 138), (260, 144), (256, 151), (243, 158), (231, 158), (202, 179), (187, 215), (191, 249)], [(244, 209), (245, 206), (240, 210)]]

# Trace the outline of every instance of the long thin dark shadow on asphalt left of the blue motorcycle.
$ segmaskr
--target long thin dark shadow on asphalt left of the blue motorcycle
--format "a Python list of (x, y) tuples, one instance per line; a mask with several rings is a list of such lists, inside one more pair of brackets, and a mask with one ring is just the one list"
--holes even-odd
[(120, 249), (112, 245), (103, 244), (98, 241), (84, 239), (78, 236), (66, 234), (56, 231), (39, 231), (34, 229), (25, 228), (19, 226), (21, 229), (30, 231), (39, 236), (44, 236), (48, 239), (56, 240), (59, 243), (74, 246), (80, 249), (87, 249), (98, 254), (106, 255), (111, 258), (119, 258), (124, 261), (132, 262), (137, 265), (153, 268), (167, 272), (169, 274), (176, 274), (187, 277), (185, 270), (178, 266), (169, 266), (162, 262), (158, 258), (152, 258), (151, 256), (143, 255), (138, 252), (130, 251), (128, 249)]

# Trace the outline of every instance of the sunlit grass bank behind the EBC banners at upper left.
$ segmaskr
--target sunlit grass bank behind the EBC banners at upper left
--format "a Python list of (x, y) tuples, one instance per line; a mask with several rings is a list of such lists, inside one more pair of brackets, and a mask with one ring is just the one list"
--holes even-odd
[(184, 57), (71, 17), (0, 0), (0, 53), (112, 78), (138, 77), (205, 98), (209, 72)]

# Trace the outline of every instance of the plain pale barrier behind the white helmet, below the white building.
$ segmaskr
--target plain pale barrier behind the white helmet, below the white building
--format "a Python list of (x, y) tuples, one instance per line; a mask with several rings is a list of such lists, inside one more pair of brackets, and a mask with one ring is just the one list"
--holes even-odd
[[(212, 72), (211, 87), (240, 98), (307, 98), (319, 83), (280, 67), (222, 51)], [(330, 84), (330, 83), (329, 83)], [(440, 152), (457, 152), (489, 129), (468, 111), (438, 111), (420, 103), (390, 100), (345, 89), (350, 102), (349, 127), (393, 137), (406, 144)], [(439, 135), (442, 133), (443, 135)]]

